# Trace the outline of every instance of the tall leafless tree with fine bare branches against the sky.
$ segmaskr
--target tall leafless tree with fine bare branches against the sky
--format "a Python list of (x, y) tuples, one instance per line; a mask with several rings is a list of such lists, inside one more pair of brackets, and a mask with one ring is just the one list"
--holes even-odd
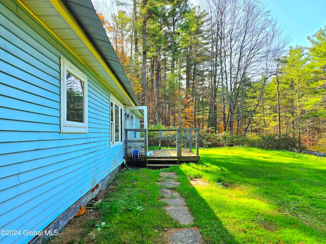
[[(241, 109), (238, 105), (242, 89), (246, 87), (242, 83), (264, 77), (261, 96), (249, 115), (248, 128), (264, 86), (275, 73), (274, 60), (283, 52), (287, 39), (281, 38), (282, 28), (258, 0), (207, 0), (206, 5), (213, 5), (210, 18), (215, 23), (211, 27), (219, 56), (215, 69), (220, 70), (224, 130), (233, 133), (235, 116)], [(238, 119), (241, 118), (238, 116)]]

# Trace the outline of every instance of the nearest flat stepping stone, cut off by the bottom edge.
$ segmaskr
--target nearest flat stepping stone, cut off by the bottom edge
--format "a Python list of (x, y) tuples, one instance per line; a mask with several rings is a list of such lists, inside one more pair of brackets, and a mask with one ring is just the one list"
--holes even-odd
[(170, 244), (201, 244), (203, 239), (196, 228), (186, 228), (168, 234)]

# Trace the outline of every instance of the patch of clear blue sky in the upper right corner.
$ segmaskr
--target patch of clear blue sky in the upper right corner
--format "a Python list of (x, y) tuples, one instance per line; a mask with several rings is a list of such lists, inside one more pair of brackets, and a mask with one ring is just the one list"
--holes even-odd
[(290, 46), (309, 47), (312, 36), (326, 25), (326, 0), (261, 0), (266, 10), (284, 26), (284, 34), (291, 34)]

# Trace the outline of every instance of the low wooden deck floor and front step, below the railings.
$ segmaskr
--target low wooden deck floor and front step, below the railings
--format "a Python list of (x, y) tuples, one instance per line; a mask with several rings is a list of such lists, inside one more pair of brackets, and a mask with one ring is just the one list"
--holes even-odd
[(140, 159), (134, 160), (131, 155), (127, 157), (127, 164), (138, 167), (169, 167), (171, 165), (179, 165), (184, 162), (198, 163), (200, 157), (189, 149), (182, 148), (181, 155), (177, 156), (176, 149), (160, 149), (153, 151), (153, 156), (142, 156)]

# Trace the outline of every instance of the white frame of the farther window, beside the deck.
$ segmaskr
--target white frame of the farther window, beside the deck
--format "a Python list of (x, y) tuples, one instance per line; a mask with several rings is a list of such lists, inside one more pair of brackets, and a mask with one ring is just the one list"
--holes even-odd
[[(112, 116), (112, 108), (111, 104), (113, 104), (113, 116)], [(119, 107), (119, 141), (116, 141), (115, 136), (115, 128), (116, 128), (116, 121), (115, 121), (115, 106)], [(124, 124), (124, 116), (123, 116), (123, 105), (120, 103), (115, 97), (112, 95), (110, 96), (110, 142), (112, 146), (121, 145), (123, 144), (123, 124)]]

